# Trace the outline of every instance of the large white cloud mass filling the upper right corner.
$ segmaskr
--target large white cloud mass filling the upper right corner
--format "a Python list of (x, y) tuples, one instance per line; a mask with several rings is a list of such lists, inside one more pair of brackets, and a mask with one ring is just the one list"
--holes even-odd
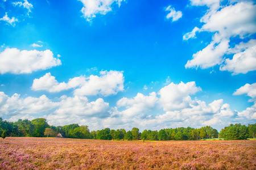
[[(256, 66), (253, 64), (255, 62), (249, 63), (255, 59), (254, 47), (251, 46), (246, 50), (238, 50), (237, 48), (235, 52), (234, 49), (229, 48), (229, 41), (230, 37), (239, 36), (243, 40), (256, 32), (256, 5), (247, 1), (238, 3), (230, 1), (228, 5), (220, 6), (218, 0), (191, 0), (191, 5), (206, 5), (209, 10), (200, 19), (200, 22), (204, 23), (203, 26), (201, 28), (195, 27), (193, 31), (185, 33), (183, 39), (191, 39), (196, 36), (197, 32), (203, 31), (215, 34), (212, 37), (212, 42), (203, 50), (193, 54), (193, 58), (187, 62), (185, 67), (207, 69), (222, 63), (221, 71), (227, 70), (234, 74), (245, 74), (248, 71), (255, 70)], [(230, 53), (234, 53), (233, 59), (224, 59), (224, 55)], [(205, 62), (205, 58), (213, 61), (212, 64)], [(238, 61), (241, 65), (238, 65)]]

